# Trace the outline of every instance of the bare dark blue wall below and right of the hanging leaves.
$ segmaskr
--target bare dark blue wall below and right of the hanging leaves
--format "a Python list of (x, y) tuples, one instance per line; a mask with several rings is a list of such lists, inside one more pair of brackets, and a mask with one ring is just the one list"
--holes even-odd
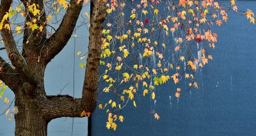
[[(256, 1), (237, 4), (256, 11)], [(117, 123), (116, 132), (106, 128), (107, 116), (97, 110), (93, 135), (255, 135), (256, 27), (230, 12), (228, 24), (212, 30), (219, 39), (210, 53), (214, 60), (196, 72), (199, 90), (182, 93), (178, 102), (173, 83), (158, 87), (156, 103), (141, 98), (137, 109), (131, 103), (125, 107), (124, 123)], [(159, 121), (147, 112), (152, 110)]]

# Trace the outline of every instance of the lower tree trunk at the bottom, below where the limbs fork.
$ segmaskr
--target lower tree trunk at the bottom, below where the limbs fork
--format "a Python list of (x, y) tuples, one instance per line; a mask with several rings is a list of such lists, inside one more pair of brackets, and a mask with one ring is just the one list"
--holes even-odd
[(15, 114), (16, 136), (46, 136), (48, 121), (44, 119), (40, 109), (31, 98), (17, 98), (15, 106), (19, 107)]

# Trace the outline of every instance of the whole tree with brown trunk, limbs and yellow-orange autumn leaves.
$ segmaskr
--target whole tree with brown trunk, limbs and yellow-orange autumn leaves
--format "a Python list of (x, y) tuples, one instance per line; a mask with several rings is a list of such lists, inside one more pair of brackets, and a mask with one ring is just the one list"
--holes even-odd
[[(120, 111), (129, 100), (137, 107), (136, 94), (150, 93), (149, 97), (154, 100), (154, 88), (169, 79), (175, 85), (188, 80), (186, 90), (192, 86), (198, 88), (194, 72), (212, 59), (207, 48), (214, 48), (217, 41), (211, 25), (227, 22), (229, 10), (246, 15), (254, 24), (253, 12), (237, 10), (234, 0), (229, 5), (213, 0), (90, 1), (90, 15), (86, 14), (90, 18), (86, 72), (82, 98), (76, 99), (69, 95), (47, 95), (44, 70), (72, 36), (83, 1), (22, 0), (12, 10), (13, 3), (2, 0), (0, 5), (2, 49), (11, 62), (0, 57), (0, 79), (15, 94), (15, 135), (47, 135), (47, 123), (52, 119), (90, 114), (97, 105), (97, 90), (101, 90), (99, 80), (106, 85), (102, 92), (112, 92), (115, 97), (115, 100), (109, 98), (104, 106), (99, 104), (99, 108), (108, 113), (106, 127), (116, 130), (115, 121), (124, 120)], [(49, 3), (53, 12), (45, 10), (51, 8), (47, 7)], [(53, 15), (58, 16), (61, 8), (67, 11), (58, 29), (49, 34), (48, 22)], [(23, 23), (10, 21), (19, 14), (24, 17)], [(104, 21), (106, 29), (103, 29)], [(10, 28), (13, 26), (15, 30)], [(20, 33), (23, 33), (21, 51), (13, 36)], [(174, 93), (177, 99), (181, 92), (178, 86)], [(156, 111), (151, 113), (156, 119), (160, 118)]]

